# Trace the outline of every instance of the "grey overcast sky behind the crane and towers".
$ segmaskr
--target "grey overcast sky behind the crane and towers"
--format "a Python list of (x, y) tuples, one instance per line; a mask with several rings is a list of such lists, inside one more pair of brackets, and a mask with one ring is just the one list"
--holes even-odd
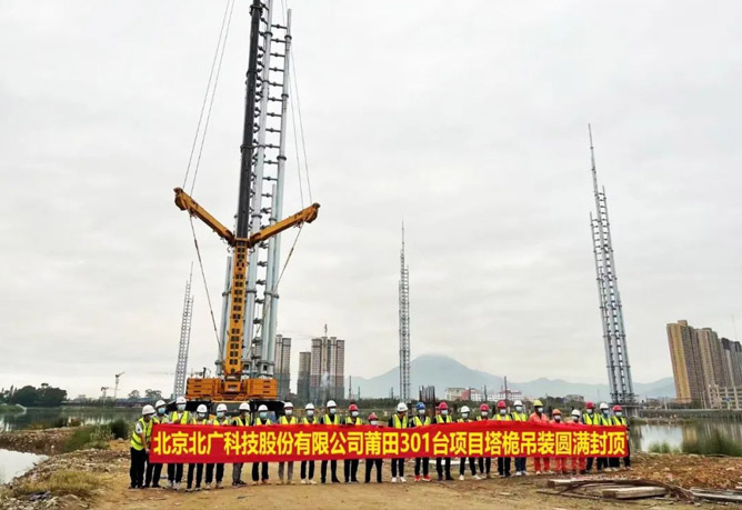
[[(234, 10), (194, 191), (228, 223), (248, 3)], [(223, 6), (0, 4), (0, 386), (97, 394), (124, 371), (123, 391), (170, 391), (194, 259), (172, 188)], [(404, 220), (413, 357), (450, 354), (512, 380), (604, 382), (588, 122), (634, 380), (671, 373), (668, 321), (733, 337), (736, 313), (742, 330), (739, 2), (291, 7), (322, 203), (281, 286), (294, 364), (325, 322), (347, 339), (347, 374), (397, 364)], [(290, 156), (287, 213), (301, 207)], [(218, 301), (224, 244), (197, 229)], [(194, 293), (191, 366), (211, 367), (200, 281)]]

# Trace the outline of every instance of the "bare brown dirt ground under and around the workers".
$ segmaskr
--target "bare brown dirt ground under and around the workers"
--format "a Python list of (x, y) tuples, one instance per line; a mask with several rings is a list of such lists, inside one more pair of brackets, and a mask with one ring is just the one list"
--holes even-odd
[[(742, 480), (742, 459), (711, 458), (681, 454), (648, 454), (634, 457), (633, 471), (620, 471), (604, 474), (604, 478), (641, 478), (676, 484), (683, 488), (735, 488)], [(433, 466), (431, 466), (432, 468)], [(243, 478), (248, 481), (251, 470), (247, 467)], [(14, 483), (29, 480), (43, 480), (59, 470), (88, 472), (100, 482), (89, 497), (47, 494), (38, 501), (29, 501), (28, 497), (13, 498), (11, 490), (6, 489), (0, 508), (7, 509), (103, 509), (119, 508), (147, 509), (168, 507), (179, 509), (220, 509), (260, 506), (261, 509), (290, 508), (378, 508), (394, 504), (395, 507), (425, 508), (498, 508), (513, 507), (519, 509), (690, 509), (696, 503), (671, 499), (645, 499), (634, 501), (611, 501), (605, 499), (588, 499), (547, 493), (537, 484), (537, 480), (555, 478), (555, 476), (529, 476), (521, 478), (490, 480), (472, 480), (450, 482), (413, 482), (412, 462), (405, 467), (407, 483), (390, 483), (390, 463), (384, 462), (383, 483), (363, 482), (359, 484), (302, 486), (299, 483), (299, 462), (294, 464), (294, 484), (279, 486), (277, 464), (270, 466), (269, 486), (231, 487), (231, 466), (225, 467), (225, 488), (222, 490), (201, 490), (186, 492), (183, 480), (180, 491), (173, 490), (130, 490), (129, 487), (129, 450), (126, 441), (112, 441), (111, 450), (83, 450), (50, 457)], [(361, 461), (360, 479), (364, 464)], [(342, 462), (338, 467), (342, 479)], [(458, 476), (458, 466), (453, 469)], [(184, 473), (186, 474), (186, 473)], [(247, 477), (244, 477), (247, 474)], [(433, 474), (433, 478), (434, 474)], [(595, 477), (596, 478), (596, 477)], [(319, 482), (319, 462), (315, 480)], [(724, 508), (722, 503), (702, 503), (703, 508)]]

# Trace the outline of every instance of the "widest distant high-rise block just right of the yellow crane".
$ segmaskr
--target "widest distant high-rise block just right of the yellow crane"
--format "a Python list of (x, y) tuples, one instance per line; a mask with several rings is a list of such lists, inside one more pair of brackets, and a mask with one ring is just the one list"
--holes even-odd
[(345, 341), (324, 336), (312, 339), (309, 373), (309, 398), (314, 403), (343, 399), (345, 376)]

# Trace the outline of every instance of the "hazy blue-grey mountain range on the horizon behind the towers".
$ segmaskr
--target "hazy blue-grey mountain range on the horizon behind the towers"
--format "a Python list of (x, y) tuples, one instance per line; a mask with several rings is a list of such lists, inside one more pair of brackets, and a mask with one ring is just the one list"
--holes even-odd
[[(425, 354), (410, 363), (412, 394), (418, 393), (421, 386), (434, 386), (435, 392), (442, 397), (445, 388), (477, 388), (487, 387), (488, 392), (495, 392), (502, 388), (503, 379), (480, 370), (473, 370), (448, 356)], [(348, 383), (348, 381), (345, 381)], [(354, 377), (353, 389), (361, 388), (362, 397), (387, 397), (393, 387), (399, 394), (399, 367), (374, 378), (364, 379)], [(508, 386), (518, 389), (529, 397), (544, 397), (547, 394), (563, 397), (565, 394), (581, 394), (589, 400), (608, 399), (608, 384), (589, 384), (569, 382), (561, 379), (537, 379), (529, 382), (512, 382)], [(644, 399), (646, 397), (673, 397), (675, 387), (672, 378), (663, 378), (650, 383), (634, 383), (634, 392)]]

